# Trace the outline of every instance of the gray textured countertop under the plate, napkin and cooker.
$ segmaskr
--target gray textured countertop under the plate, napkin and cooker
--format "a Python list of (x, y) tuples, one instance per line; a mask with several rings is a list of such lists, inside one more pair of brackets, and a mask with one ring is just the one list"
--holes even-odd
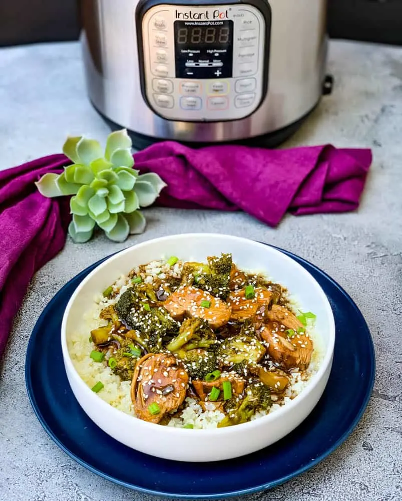
[[(150, 499), (99, 478), (52, 442), (28, 401), (25, 353), (41, 311), (78, 271), (135, 242), (193, 230), (264, 240), (312, 261), (352, 296), (375, 344), (374, 392), (353, 434), (312, 470), (253, 499), (402, 498), (402, 49), (333, 42), (329, 70), (333, 94), (287, 145), (372, 147), (357, 212), (289, 215), (271, 229), (243, 213), (151, 208), (143, 235), (123, 244), (103, 236), (85, 245), (68, 240), (36, 275), (0, 373), (1, 501)], [(108, 132), (87, 101), (77, 43), (0, 50), (0, 169), (60, 152), (68, 134), (104, 141)]]

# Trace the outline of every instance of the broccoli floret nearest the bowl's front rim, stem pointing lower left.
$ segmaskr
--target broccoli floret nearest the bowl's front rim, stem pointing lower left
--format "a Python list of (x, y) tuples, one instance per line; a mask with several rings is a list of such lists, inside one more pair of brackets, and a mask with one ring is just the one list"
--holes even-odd
[(271, 405), (271, 393), (268, 386), (260, 381), (251, 383), (246, 389), (243, 400), (237, 405), (233, 400), (225, 404), (227, 415), (218, 424), (218, 428), (246, 423), (257, 411), (267, 410)]

